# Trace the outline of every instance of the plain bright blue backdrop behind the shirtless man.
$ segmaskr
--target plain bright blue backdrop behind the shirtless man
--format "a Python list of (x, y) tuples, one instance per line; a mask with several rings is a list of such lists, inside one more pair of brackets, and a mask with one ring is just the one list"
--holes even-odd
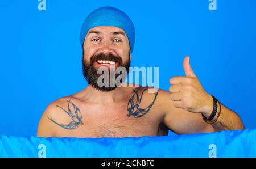
[(0, 134), (36, 136), (47, 105), (86, 87), (80, 27), (92, 10), (113, 6), (136, 29), (131, 66), (159, 66), (160, 88), (185, 75), (183, 59), (209, 94), (255, 125), (256, 1), (68, 1), (0, 3)]

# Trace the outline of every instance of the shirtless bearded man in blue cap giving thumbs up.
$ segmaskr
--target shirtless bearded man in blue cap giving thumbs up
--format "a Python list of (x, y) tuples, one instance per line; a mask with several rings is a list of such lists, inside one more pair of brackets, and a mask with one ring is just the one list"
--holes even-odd
[(101, 7), (81, 27), (82, 70), (88, 86), (49, 104), (38, 126), (39, 137), (141, 137), (244, 129), (240, 117), (208, 94), (184, 58), (185, 77), (172, 77), (169, 91), (110, 85), (117, 74), (99, 78), (105, 69), (129, 71), (134, 24), (125, 12)]

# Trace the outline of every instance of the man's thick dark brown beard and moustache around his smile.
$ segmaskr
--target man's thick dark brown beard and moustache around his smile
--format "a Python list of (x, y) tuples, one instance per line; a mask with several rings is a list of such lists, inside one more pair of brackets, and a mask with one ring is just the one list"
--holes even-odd
[[(130, 56), (130, 54), (129, 54)], [(84, 74), (84, 78), (88, 82), (89, 85), (96, 88), (99, 91), (112, 91), (115, 88), (119, 87), (115, 83), (115, 80), (119, 76), (119, 74), (114, 73), (114, 77), (110, 75), (110, 71), (115, 71), (117, 67), (125, 67), (127, 74), (129, 73), (129, 67), (130, 67), (130, 57), (128, 56), (128, 60), (126, 62), (122, 61), (122, 58), (120, 56), (114, 56), (113, 54), (104, 54), (100, 53), (97, 55), (94, 55), (90, 58), (89, 62), (86, 62), (84, 60), (84, 52), (82, 53), (82, 73)], [(108, 68), (109, 78), (106, 80), (107, 82), (104, 82), (104, 86), (99, 86), (98, 84), (98, 78), (102, 75), (101, 73), (98, 73), (97, 69), (95, 68), (94, 64), (98, 60), (103, 61), (114, 61), (117, 64), (117, 67), (114, 67), (114, 70)], [(125, 77), (126, 78), (126, 77)], [(123, 82), (123, 78), (120, 80), (120, 82)], [(114, 84), (110, 85), (110, 84)]]

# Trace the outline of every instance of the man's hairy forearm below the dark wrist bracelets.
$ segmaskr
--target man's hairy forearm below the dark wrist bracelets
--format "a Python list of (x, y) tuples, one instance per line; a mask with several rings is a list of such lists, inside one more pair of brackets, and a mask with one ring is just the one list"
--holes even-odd
[[(221, 103), (220, 103), (221, 104)], [(221, 112), (220, 112), (221, 110)], [(217, 115), (220, 113), (220, 117), (218, 117), (217, 121), (211, 124), (216, 131), (221, 130), (241, 130), (245, 129), (242, 120), (237, 115), (237, 113), (231, 111), (226, 108), (223, 104), (218, 104), (217, 114), (214, 117), (213, 121), (217, 118)], [(209, 116), (209, 113), (207, 114)]]

